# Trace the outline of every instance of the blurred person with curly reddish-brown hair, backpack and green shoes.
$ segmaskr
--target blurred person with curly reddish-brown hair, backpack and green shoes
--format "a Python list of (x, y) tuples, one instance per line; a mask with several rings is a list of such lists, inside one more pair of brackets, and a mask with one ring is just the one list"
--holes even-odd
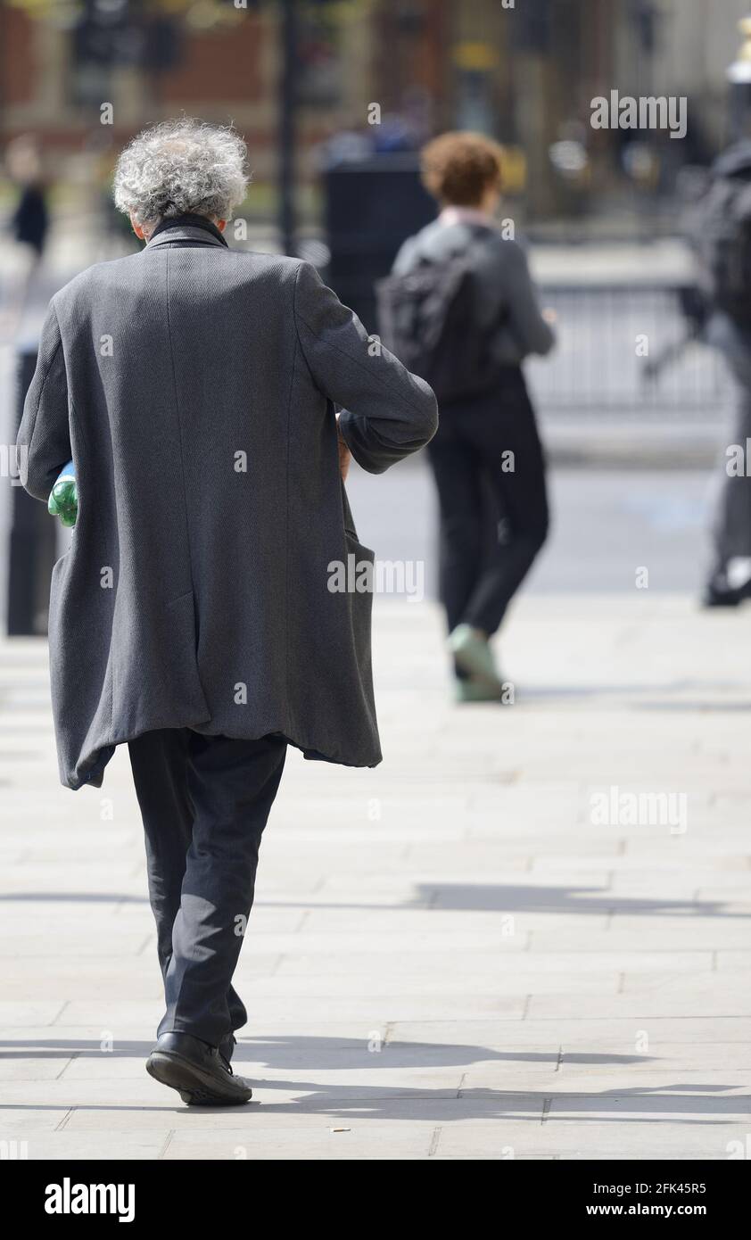
[[(490, 639), (548, 534), (545, 465), (522, 362), (548, 353), (523, 249), (494, 219), (502, 150), (447, 133), (421, 151), (437, 219), (378, 285), (383, 342), (433, 387), (428, 454), (440, 508), (440, 594), (460, 702), (498, 701)], [(490, 501), (490, 502), (488, 502)]]

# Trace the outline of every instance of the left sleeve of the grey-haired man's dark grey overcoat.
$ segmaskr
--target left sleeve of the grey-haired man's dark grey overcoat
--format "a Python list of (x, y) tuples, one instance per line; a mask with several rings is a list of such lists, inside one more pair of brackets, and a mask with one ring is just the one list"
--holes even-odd
[(42, 326), (36, 371), (24, 403), (16, 450), (24, 486), (36, 500), (46, 503), (59, 471), (73, 455), (66, 363), (52, 301)]

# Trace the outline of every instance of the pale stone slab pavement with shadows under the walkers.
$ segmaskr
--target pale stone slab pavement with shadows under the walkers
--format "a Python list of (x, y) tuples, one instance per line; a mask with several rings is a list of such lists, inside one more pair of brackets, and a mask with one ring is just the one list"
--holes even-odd
[(0, 1141), (26, 1143), (1, 1148), (751, 1157), (749, 615), (527, 596), (506, 708), (447, 701), (440, 637), (431, 605), (378, 600), (383, 765), (290, 754), (237, 975), (255, 1099), (229, 1111), (144, 1071), (126, 753), (59, 787), (45, 646), (0, 646)]

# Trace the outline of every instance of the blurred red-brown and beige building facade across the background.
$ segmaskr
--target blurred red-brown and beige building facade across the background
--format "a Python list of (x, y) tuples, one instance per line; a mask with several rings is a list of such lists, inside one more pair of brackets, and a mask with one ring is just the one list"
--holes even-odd
[[(725, 71), (749, 0), (296, 0), (299, 177), (322, 146), (418, 145), (445, 128), (509, 149), (527, 218), (616, 215), (669, 195), (685, 162), (726, 135)], [(1, 141), (32, 131), (56, 176), (182, 110), (234, 120), (273, 215), (283, 0), (6, 0), (0, 10)], [(685, 94), (683, 143), (594, 130), (591, 99)], [(103, 104), (112, 115), (103, 123)], [(380, 109), (373, 124), (373, 104)], [(264, 187), (266, 190), (264, 191)]]

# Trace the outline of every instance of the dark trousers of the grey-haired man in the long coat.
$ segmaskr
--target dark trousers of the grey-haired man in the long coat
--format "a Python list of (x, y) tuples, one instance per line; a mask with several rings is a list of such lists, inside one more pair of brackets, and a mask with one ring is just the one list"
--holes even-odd
[(232, 976), (286, 743), (180, 728), (147, 732), (129, 750), (165, 983), (157, 1033), (191, 1033), (229, 1059), (248, 1019)]

